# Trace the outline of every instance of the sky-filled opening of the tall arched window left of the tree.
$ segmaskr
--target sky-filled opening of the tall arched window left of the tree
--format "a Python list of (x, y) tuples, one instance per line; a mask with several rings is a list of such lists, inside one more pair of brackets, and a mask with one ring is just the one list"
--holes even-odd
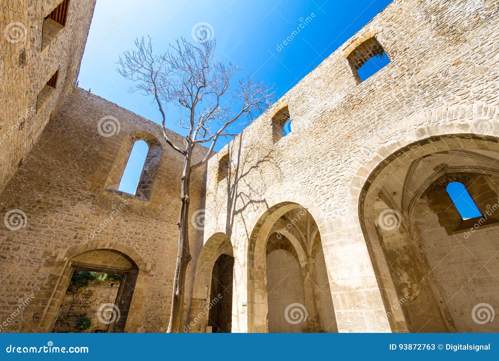
[(119, 191), (129, 194), (136, 193), (148, 151), (149, 146), (145, 141), (137, 140), (134, 143), (125, 171), (121, 177), (120, 185), (118, 187)]

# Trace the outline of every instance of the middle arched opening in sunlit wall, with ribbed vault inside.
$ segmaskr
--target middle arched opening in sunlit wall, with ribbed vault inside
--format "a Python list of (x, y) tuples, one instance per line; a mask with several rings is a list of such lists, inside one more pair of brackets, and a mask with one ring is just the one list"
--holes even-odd
[(248, 253), (248, 332), (337, 332), (322, 243), (293, 202), (268, 209)]

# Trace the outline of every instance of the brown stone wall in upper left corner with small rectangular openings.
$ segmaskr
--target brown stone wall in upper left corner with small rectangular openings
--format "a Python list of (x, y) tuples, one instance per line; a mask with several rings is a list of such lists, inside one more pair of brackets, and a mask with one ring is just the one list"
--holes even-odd
[[(1, 1), (0, 192), (78, 76), (95, 0), (69, 1), (65, 25), (49, 18), (44, 27), (44, 18), (61, 1)], [(57, 82), (47, 94), (44, 87), (56, 71)]]

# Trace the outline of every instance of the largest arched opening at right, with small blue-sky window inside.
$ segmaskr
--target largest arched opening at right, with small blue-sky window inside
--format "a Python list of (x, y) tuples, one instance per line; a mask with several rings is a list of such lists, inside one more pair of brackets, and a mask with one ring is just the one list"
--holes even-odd
[[(499, 331), (498, 159), (496, 138), (445, 135), (369, 176), (359, 218), (392, 331)], [(449, 193), (453, 183), (465, 191)]]

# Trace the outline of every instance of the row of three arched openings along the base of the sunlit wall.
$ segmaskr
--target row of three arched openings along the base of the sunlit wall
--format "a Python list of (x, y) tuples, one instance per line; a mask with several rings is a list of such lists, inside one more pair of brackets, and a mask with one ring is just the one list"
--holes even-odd
[[(448, 193), (453, 182), (480, 216), (463, 218)], [(371, 173), (359, 218), (392, 332), (499, 330), (481, 324), (487, 311), (475, 307), (499, 309), (498, 185), (497, 140), (468, 134), (408, 145)], [(232, 293), (231, 280), (244, 274), (236, 271), (229, 238), (212, 238), (218, 241), (209, 239), (202, 252), (210, 254), (205, 301), (220, 289)], [(247, 254), (248, 332), (338, 332), (322, 243), (314, 218), (297, 203), (281, 202), (260, 217)], [(233, 296), (195, 332), (230, 332), (229, 315), (234, 321), (240, 307)]]

